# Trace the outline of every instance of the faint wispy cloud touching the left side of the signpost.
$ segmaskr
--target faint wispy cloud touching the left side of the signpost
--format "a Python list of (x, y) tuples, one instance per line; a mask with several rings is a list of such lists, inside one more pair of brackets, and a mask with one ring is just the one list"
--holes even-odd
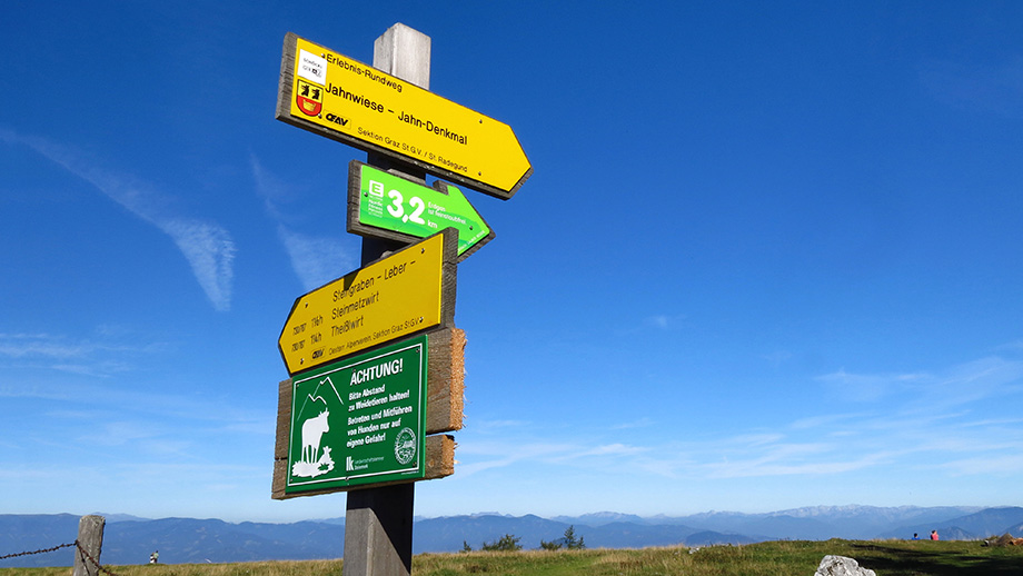
[(250, 167), (256, 191), (264, 200), (264, 209), (267, 216), (277, 221), (277, 237), (288, 252), (291, 269), (306, 290), (318, 288), (356, 267), (357, 254), (350, 240), (296, 231), (290, 225), (292, 219), (281, 208), (296, 193), (292, 187), (266, 170), (255, 157), (250, 160)]

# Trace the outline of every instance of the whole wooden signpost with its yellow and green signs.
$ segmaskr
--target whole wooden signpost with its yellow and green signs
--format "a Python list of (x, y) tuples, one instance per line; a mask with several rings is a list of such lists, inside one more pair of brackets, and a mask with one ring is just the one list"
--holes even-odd
[(369, 152), (349, 169), (362, 267), (296, 299), (278, 338), (291, 378), (279, 385), (271, 497), (351, 490), (345, 576), (407, 576), (413, 483), (454, 473), (444, 433), (461, 428), (466, 342), (456, 269), (494, 232), (461, 190), (429, 188), (426, 173), (500, 199), (533, 173), (507, 125), (427, 90), (429, 51), (403, 24), (374, 43), (376, 68), (285, 37), (277, 118)]

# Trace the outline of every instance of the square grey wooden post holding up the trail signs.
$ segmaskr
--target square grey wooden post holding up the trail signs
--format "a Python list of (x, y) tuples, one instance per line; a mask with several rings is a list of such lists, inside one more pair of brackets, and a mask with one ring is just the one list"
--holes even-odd
[[(373, 66), (429, 89), (430, 38), (397, 23), (374, 42)], [(426, 181), (426, 171), (370, 153), (367, 163)], [(400, 248), (393, 240), (362, 239), (362, 266)], [(407, 576), (413, 567), (413, 504), (416, 485), (399, 484), (348, 493), (345, 514), (345, 576)]]

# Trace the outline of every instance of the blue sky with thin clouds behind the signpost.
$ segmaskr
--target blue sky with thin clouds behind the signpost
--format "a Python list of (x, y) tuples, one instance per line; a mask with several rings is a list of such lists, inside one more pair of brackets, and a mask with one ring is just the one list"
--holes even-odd
[(284, 36), (535, 173), (468, 192), (454, 476), (416, 513), (1009, 505), (1023, 479), (1016, 2), (16, 2), (0, 23), (0, 513), (291, 522), (277, 338), (358, 267)]

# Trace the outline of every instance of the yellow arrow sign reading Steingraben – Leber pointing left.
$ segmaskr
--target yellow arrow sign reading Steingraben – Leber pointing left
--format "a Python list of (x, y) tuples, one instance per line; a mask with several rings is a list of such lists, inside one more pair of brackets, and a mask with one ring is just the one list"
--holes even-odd
[(457, 242), (447, 228), (296, 299), (278, 339), (288, 374), (450, 325)]

